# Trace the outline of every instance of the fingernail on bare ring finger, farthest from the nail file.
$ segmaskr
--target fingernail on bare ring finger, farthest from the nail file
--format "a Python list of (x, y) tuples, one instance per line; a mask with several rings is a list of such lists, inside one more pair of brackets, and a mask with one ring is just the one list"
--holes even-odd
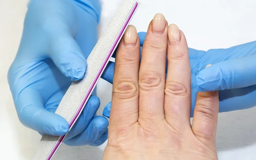
[(170, 45), (174, 45), (180, 42), (180, 29), (177, 25), (171, 24), (168, 28), (168, 38)]

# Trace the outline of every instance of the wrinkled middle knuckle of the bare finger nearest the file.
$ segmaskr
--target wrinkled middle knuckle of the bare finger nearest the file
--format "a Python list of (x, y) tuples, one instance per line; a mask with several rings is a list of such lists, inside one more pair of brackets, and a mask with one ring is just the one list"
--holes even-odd
[(124, 80), (113, 88), (112, 95), (119, 99), (130, 99), (138, 96), (138, 89), (135, 82)]

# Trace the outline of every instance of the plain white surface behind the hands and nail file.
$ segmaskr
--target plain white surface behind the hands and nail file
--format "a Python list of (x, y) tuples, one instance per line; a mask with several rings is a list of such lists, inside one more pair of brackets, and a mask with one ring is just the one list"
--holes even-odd
[[(100, 34), (120, 0), (102, 0)], [(185, 33), (190, 48), (228, 48), (256, 40), (256, 0), (138, 0), (131, 24), (146, 31), (154, 14), (163, 13)], [(27, 0), (0, 0), (0, 159), (29, 160), (41, 136), (17, 119), (7, 83), (7, 70), (15, 57)], [(246, 64), (244, 64), (246, 65)], [(111, 100), (111, 85), (99, 81), (102, 108)], [(256, 107), (221, 113), (218, 121), (219, 160), (256, 160)], [(53, 160), (100, 160), (104, 146), (62, 145)]]

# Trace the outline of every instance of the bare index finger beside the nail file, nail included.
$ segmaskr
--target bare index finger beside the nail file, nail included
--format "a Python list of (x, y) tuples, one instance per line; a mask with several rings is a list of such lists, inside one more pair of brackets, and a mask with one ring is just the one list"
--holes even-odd
[(116, 54), (109, 132), (117, 126), (129, 126), (138, 120), (139, 65), (140, 42), (136, 28), (130, 25)]

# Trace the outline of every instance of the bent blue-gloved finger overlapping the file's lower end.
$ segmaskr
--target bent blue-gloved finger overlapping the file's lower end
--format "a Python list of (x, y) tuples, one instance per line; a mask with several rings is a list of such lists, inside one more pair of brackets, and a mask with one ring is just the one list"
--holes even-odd
[(60, 115), (44, 109), (43, 99), (37, 90), (25, 88), (15, 100), (20, 122), (37, 132), (61, 136), (69, 131), (68, 122)]

